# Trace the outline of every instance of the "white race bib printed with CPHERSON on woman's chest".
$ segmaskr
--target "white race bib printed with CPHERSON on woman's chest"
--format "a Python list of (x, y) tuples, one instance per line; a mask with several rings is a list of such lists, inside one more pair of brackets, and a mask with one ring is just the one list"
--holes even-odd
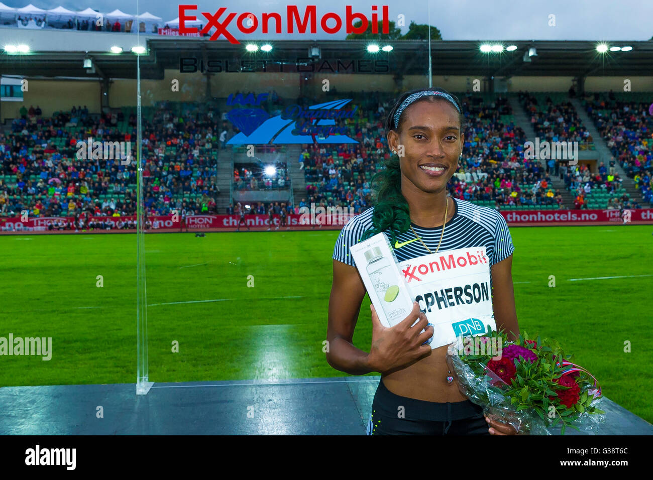
[(434, 326), (431, 348), (496, 330), (485, 247), (431, 253), (399, 263), (419, 308)]

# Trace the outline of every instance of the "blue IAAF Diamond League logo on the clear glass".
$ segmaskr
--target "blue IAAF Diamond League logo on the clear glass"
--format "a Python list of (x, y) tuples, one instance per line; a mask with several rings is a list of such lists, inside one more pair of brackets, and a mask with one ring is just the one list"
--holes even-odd
[(265, 110), (234, 108), (227, 118), (240, 133), (234, 135), (227, 145), (243, 144), (330, 144), (358, 143), (345, 133), (346, 127), (336, 126), (334, 119), (354, 118), (358, 106), (342, 109), (351, 99), (334, 100), (302, 108), (291, 105), (281, 115), (272, 118)]

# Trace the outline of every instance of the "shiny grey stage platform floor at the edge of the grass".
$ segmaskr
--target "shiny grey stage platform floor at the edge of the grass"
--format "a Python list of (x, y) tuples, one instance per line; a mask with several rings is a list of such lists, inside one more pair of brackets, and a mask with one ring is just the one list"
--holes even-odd
[[(3, 387), (0, 434), (364, 435), (379, 379), (155, 383), (140, 396), (134, 383)], [(599, 435), (653, 434), (608, 398), (603, 409)]]

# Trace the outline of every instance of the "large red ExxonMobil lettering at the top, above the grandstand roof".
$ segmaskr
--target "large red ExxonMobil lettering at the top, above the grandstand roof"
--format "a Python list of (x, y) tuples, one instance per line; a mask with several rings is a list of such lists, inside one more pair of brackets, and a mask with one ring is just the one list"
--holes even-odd
[[(317, 33), (317, 12), (315, 5), (307, 5), (303, 14), (300, 14), (296, 5), (287, 5), (285, 18), (278, 12), (265, 12), (261, 14), (261, 28), (263, 33), (282, 33), (285, 24), (286, 33), (295, 33), (295, 27), (298, 33)], [(180, 35), (190, 33), (208, 33), (212, 27), (215, 32), (209, 40), (217, 40), (219, 37), (225, 37), (230, 43), (240, 44), (231, 34), (236, 29), (241, 33), (254, 33), (259, 27), (259, 18), (251, 12), (227, 12), (226, 7), (218, 8), (214, 14), (210, 12), (199, 12), (206, 18), (207, 23), (202, 29), (195, 27), (186, 27), (185, 22), (197, 22), (197, 5), (180, 5), (179, 6), (179, 33)], [(379, 33), (379, 12), (377, 6), (372, 5), (372, 33)], [(354, 27), (354, 22), (360, 20), (360, 27)], [(270, 31), (270, 22), (272, 21), (272, 31)], [(233, 24), (232, 24), (233, 22)], [(364, 33), (368, 28), (369, 20), (360, 12), (353, 12), (351, 5), (345, 7), (345, 18), (335, 12), (328, 12), (319, 19), (319, 25), (326, 33), (338, 33), (345, 25), (346, 33)], [(381, 33), (390, 33), (388, 6), (381, 7), (381, 22), (383, 29)], [(231, 32), (229, 29), (231, 28)]]

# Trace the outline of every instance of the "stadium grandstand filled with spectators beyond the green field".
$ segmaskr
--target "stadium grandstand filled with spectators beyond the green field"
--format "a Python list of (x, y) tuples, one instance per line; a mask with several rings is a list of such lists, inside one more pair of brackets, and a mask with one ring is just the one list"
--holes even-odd
[[(5, 44), (12, 32), (3, 29)], [(118, 39), (125, 42), (113, 33), (48, 29), (37, 33), (37, 44), (31, 46), (29, 55), (20, 57), (20, 63), (12, 55), (0, 60), (5, 91), (18, 91), (18, 78), (33, 78), (32, 89), (25, 91), (20, 101), (4, 101), (1, 110), (0, 215), (14, 217), (27, 211), (33, 217), (67, 217), (65, 229), (72, 230), (84, 229), (90, 217), (133, 216), (135, 163), (107, 161), (93, 155), (78, 158), (78, 144), (87, 138), (103, 143), (128, 142), (131, 155), (136, 156), (136, 106), (129, 95), (124, 95), (125, 90), (135, 91), (130, 78), (135, 76), (135, 54), (111, 53)], [(46, 50), (52, 35), (65, 36), (56, 51)], [(82, 36), (93, 38), (95, 51), (75, 52), (72, 43)], [(400, 86), (410, 88), (421, 69), (419, 61), (398, 59), (402, 51), (415, 48), (418, 57), (423, 55), (423, 42), (397, 42), (392, 56), (384, 57), (390, 69), (387, 74), (357, 72), (352, 63), (348, 70), (332, 75), (334, 88), (326, 92), (317, 85), (328, 73), (295, 72), (298, 85), (292, 95), (287, 95), (289, 89), (275, 83), (279, 73), (265, 72), (270, 86), (253, 88), (253, 78), (263, 72), (244, 69), (238, 59), (238, 48), (242, 47), (214, 45), (192, 37), (144, 36), (142, 40), (147, 50), (139, 60), (142, 81), (148, 84), (142, 99), (144, 200), (148, 215), (165, 216), (172, 210), (190, 215), (229, 214), (230, 206), (238, 214), (238, 208), (245, 205), (249, 205), (249, 214), (267, 212), (268, 206), (276, 202), (285, 202), (289, 214), (299, 214), (300, 208), (310, 204), (347, 207), (355, 213), (370, 206), (371, 177), (389, 155), (383, 134), (385, 114)], [(318, 63), (328, 64), (331, 57), (370, 61), (370, 54), (355, 53), (360, 49), (351, 45), (321, 42), (321, 57), (302, 61), (313, 70)], [(180, 52), (180, 46), (185, 50)], [(650, 206), (651, 120), (645, 100), (650, 95), (614, 94), (608, 88), (619, 69), (641, 68), (640, 56), (650, 52), (650, 43), (635, 45), (618, 67), (613, 65), (613, 71), (605, 72), (605, 78), (584, 76), (594, 61), (593, 55), (585, 53), (587, 42), (540, 42), (536, 46), (536, 57), (513, 52), (507, 59), (490, 59), (488, 65), (473, 67), (473, 63), (479, 63), (474, 42), (438, 42), (436, 59), (443, 75), (435, 81), (456, 93), (466, 115), (466, 142), (460, 169), (450, 184), (451, 195), (497, 210), (623, 210)], [(180, 72), (183, 55), (197, 60), (184, 52), (196, 48), (204, 49), (206, 58), (224, 59), (225, 68), (229, 68), (229, 60), (232, 64), (240, 62), (238, 73)], [(277, 56), (284, 58), (306, 56), (305, 48), (302, 42), (275, 44)], [(529, 44), (528, 48), (533, 47)], [(558, 61), (561, 48), (565, 52), (564, 64)], [(127, 42), (123, 51), (129, 50)], [(54, 57), (57, 63), (53, 67)], [(460, 67), (466, 65), (464, 61), (470, 65), (467, 69), (480, 68), (486, 73), (479, 76), (483, 82), (480, 92), (475, 92), (479, 89), (473, 86), (475, 78)], [(279, 62), (269, 63), (277, 71), (283, 70)], [(48, 76), (35, 76), (44, 71), (45, 65), (50, 68), (50, 80)], [(291, 67), (309, 69), (305, 65)], [(255, 69), (261, 70), (261, 66)], [(270, 69), (268, 66), (266, 70)], [(532, 75), (537, 75), (537, 82)], [(547, 82), (543, 75), (551, 80)], [(372, 91), (346, 88), (357, 78), (370, 77), (375, 82)], [(173, 78), (182, 82), (180, 93), (163, 88)], [(32, 93), (36, 85), (40, 91), (48, 91), (63, 84), (72, 89), (83, 85), (84, 93), (78, 95), (77, 105)], [(538, 91), (552, 84), (564, 84), (565, 91)], [(604, 86), (603, 91), (588, 92), (582, 88), (588, 84)], [(381, 86), (386, 86), (385, 91)], [(191, 90), (193, 95), (189, 94)], [(157, 92), (161, 98), (157, 98)], [(246, 142), (231, 141), (234, 136), (242, 136), (242, 128), (249, 126), (238, 118), (236, 108), (229, 108), (228, 100), (230, 95), (242, 101), (261, 93), (267, 96), (257, 105), (257, 111), (266, 118), (279, 115), (293, 104), (308, 108), (311, 104), (349, 99), (349, 106), (356, 106), (355, 117), (339, 123), (349, 131), (353, 143), (339, 144), (334, 135), (328, 142), (257, 142), (255, 156), (248, 155)], [(182, 100), (184, 97), (200, 99)], [(535, 137), (549, 142), (577, 142), (577, 165), (569, 165), (564, 159), (529, 159), (524, 155), (525, 144)], [(281, 168), (270, 167), (275, 164)]]

